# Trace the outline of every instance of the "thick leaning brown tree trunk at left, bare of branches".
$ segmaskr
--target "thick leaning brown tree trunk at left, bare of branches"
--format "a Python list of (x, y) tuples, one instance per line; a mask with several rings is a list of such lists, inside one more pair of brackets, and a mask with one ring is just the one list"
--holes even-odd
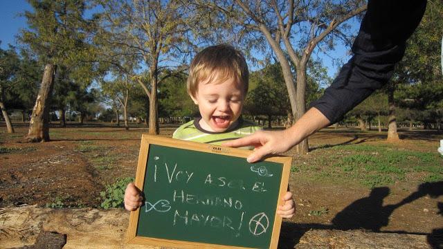
[(54, 77), (57, 66), (46, 64), (43, 73), (42, 85), (40, 86), (37, 100), (33, 108), (33, 114), (29, 122), (29, 131), (26, 140), (28, 142), (49, 141), (49, 109), (51, 93), (54, 86)]

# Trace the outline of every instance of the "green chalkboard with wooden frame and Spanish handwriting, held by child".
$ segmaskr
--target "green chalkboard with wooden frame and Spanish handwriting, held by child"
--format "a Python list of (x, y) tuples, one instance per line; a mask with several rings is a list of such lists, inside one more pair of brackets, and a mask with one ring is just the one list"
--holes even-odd
[(175, 248), (277, 248), (291, 158), (143, 135), (128, 242)]

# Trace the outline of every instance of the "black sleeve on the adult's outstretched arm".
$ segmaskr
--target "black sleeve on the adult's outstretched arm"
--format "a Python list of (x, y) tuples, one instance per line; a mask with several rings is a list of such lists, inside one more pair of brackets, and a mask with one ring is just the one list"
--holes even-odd
[(370, 0), (352, 45), (354, 55), (311, 107), (333, 124), (385, 85), (425, 9), (426, 0)]

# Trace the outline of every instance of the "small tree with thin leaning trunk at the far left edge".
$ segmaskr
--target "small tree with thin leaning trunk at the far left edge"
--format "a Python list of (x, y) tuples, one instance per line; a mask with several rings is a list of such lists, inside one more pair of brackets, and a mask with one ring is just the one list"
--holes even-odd
[(19, 57), (14, 48), (10, 46), (8, 50), (0, 48), (0, 109), (6, 122), (8, 133), (14, 133), (14, 127), (10, 121), (8, 110), (6, 109), (6, 91), (10, 91), (11, 82), (19, 68)]

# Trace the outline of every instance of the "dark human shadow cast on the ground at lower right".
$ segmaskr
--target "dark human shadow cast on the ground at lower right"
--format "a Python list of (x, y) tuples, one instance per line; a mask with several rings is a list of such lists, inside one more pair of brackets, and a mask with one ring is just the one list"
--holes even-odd
[[(435, 199), (443, 195), (443, 181), (435, 183), (422, 183), (417, 187), (417, 191), (411, 193), (399, 203), (383, 205), (383, 199), (390, 193), (389, 187), (376, 187), (369, 196), (356, 200), (341, 212), (338, 212), (332, 224), (319, 223), (282, 223), (280, 241), (278, 248), (293, 248), (299, 243), (300, 238), (309, 230), (369, 230), (381, 232), (383, 226), (388, 225), (389, 217), (397, 208), (411, 203), (426, 195)], [(440, 214), (442, 214), (443, 203), (439, 203)], [(395, 233), (410, 234), (407, 231), (390, 231)], [(426, 234), (426, 233), (414, 233)], [(426, 234), (428, 243), (433, 248), (443, 248), (443, 228), (433, 230), (431, 234)]]

